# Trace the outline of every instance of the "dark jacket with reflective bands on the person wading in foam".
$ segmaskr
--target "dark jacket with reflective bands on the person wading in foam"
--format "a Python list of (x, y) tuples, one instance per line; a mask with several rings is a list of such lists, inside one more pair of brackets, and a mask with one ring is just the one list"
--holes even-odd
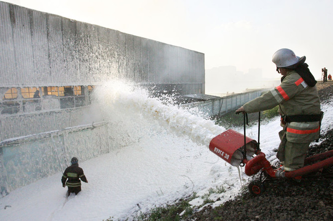
[(78, 164), (74, 164), (66, 168), (64, 174), (62, 175), (61, 182), (62, 185), (66, 183), (66, 186), (68, 187), (79, 187), (81, 186), (80, 179), (87, 183), (87, 178), (84, 175), (82, 168), (79, 167)]

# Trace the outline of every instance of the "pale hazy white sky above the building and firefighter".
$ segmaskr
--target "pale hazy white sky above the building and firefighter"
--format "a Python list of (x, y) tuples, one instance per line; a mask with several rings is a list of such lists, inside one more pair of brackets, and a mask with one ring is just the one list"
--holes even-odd
[(4, 1), (202, 52), (205, 69), (279, 77), (272, 55), (290, 48), (316, 79), (333, 70), (333, 0)]

